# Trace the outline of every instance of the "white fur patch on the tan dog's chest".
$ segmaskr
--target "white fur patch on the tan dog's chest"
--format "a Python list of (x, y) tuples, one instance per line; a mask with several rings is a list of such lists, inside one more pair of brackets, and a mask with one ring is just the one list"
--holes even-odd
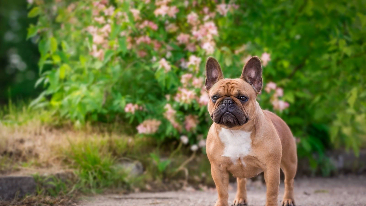
[[(232, 162), (249, 154), (251, 148), (250, 133), (243, 130), (221, 128), (219, 137), (225, 145), (223, 157), (231, 158)], [(242, 161), (243, 165), (245, 163)]]

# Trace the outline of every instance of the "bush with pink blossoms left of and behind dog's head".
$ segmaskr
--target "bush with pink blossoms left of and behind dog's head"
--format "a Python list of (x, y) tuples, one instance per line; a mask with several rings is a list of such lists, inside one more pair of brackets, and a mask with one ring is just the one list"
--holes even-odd
[[(30, 14), (46, 8), (38, 3)], [(55, 1), (49, 12), (57, 28), (43, 22), (45, 16), (35, 26), (41, 33), (38, 83), (47, 86), (41, 98), (52, 95), (51, 106), (75, 122), (112, 113), (137, 123), (138, 133), (159, 139), (184, 135), (202, 147), (211, 124), (203, 75), (207, 56), (224, 56), (224, 68), (235, 69), (225, 72), (228, 77), (241, 72), (249, 54), (261, 56), (264, 67), (270, 62), (267, 52), (245, 44), (232, 52), (220, 39), (220, 22), (238, 8), (170, 0)], [(44, 71), (46, 64), (52, 69)], [(270, 82), (259, 101), (283, 111), (289, 104), (282, 96)]]

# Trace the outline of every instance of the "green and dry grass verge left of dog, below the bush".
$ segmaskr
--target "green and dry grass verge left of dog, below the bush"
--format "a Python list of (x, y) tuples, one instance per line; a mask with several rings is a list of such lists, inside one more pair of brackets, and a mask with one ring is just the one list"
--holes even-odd
[[(0, 174), (37, 174), (37, 195), (17, 204), (58, 205), (105, 191), (175, 190), (188, 182), (213, 185), (205, 154), (192, 155), (178, 142), (158, 145), (149, 137), (135, 137), (120, 122), (75, 128), (24, 102), (0, 108), (0, 118)], [(123, 161), (141, 162), (143, 174), (131, 176), (118, 166)], [(42, 179), (43, 173), (60, 170), (74, 171), (74, 181)]]

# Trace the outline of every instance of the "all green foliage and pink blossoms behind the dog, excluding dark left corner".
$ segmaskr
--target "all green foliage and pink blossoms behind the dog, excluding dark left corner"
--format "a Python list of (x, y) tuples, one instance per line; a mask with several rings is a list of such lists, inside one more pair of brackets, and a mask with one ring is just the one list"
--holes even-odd
[(45, 90), (31, 106), (51, 106), (76, 125), (123, 119), (159, 141), (185, 135), (196, 144), (211, 124), (205, 59), (236, 78), (257, 55), (267, 83), (258, 102), (301, 139), (300, 156), (330, 142), (357, 152), (366, 128), (365, 8), (346, 0), (36, 0), (28, 37), (40, 36), (36, 86)]

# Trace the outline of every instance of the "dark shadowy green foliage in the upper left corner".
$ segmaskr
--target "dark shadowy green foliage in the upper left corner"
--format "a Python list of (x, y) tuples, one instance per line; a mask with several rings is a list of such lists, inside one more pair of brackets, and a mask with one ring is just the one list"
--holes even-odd
[(0, 4), (0, 104), (9, 98), (34, 98), (42, 90), (34, 89), (38, 76), (37, 37), (26, 40), (27, 27), (37, 19), (27, 17), (24, 0)]

